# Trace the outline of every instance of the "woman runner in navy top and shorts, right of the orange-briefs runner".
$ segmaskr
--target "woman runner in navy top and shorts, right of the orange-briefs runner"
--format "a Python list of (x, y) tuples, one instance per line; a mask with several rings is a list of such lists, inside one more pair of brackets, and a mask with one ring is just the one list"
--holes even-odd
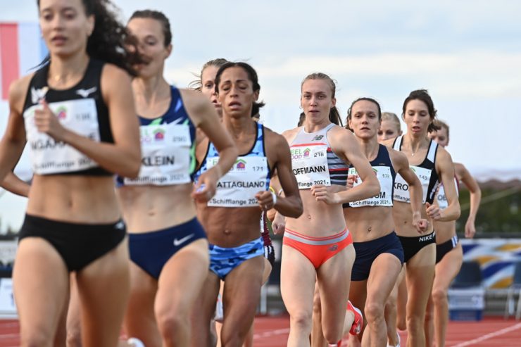
[[(409, 186), (410, 207), (413, 210), (411, 222), (420, 233), (427, 228), (427, 220), (420, 216), (422, 187), (403, 153), (378, 144), (381, 118), (377, 101), (370, 98), (354, 101), (349, 108), (347, 122), (380, 183), (377, 196), (344, 206), (349, 207), (344, 208), (344, 217), (353, 234), (356, 251), (349, 298), (353, 305), (364, 308), (364, 316), (368, 321), (362, 345), (384, 346), (387, 341), (384, 307), (403, 263), (403, 249), (394, 232), (392, 219), (396, 173)], [(356, 177), (356, 170), (350, 168), (349, 175)], [(357, 184), (355, 182), (355, 187)]]

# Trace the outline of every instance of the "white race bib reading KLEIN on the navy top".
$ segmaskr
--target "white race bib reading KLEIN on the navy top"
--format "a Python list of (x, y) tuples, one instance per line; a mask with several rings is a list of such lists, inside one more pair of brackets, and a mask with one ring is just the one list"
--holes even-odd
[(142, 125), (141, 169), (137, 178), (124, 179), (127, 185), (172, 185), (191, 182), (188, 125)]

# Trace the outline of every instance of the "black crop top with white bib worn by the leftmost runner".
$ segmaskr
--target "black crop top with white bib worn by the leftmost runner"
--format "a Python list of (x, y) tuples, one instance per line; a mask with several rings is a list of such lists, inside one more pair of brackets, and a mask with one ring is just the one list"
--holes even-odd
[(34, 110), (45, 100), (64, 127), (100, 142), (113, 143), (108, 108), (101, 92), (103, 61), (90, 59), (83, 78), (69, 89), (49, 87), (49, 64), (34, 73), (24, 103), (32, 169), (39, 175), (113, 175), (76, 149), (37, 131)]

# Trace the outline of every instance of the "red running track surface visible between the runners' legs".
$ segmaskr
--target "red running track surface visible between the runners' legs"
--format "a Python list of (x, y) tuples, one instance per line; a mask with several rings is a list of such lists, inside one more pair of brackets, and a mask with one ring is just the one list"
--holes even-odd
[[(0, 320), (0, 347), (19, 345), (19, 326), (16, 320)], [(286, 346), (289, 318), (257, 317), (253, 346)], [(402, 346), (406, 346), (407, 333), (400, 333)], [(486, 318), (480, 322), (450, 322), (446, 337), (447, 347), (505, 347), (521, 346), (521, 321)]]

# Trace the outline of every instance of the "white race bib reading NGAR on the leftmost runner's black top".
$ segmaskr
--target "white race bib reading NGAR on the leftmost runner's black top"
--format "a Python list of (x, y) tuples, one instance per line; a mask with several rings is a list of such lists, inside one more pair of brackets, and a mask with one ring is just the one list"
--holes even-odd
[[(75, 172), (98, 165), (77, 149), (37, 130), (34, 105), (23, 113), (27, 143), (30, 146), (32, 170), (38, 175)], [(49, 103), (49, 108), (66, 129), (94, 141), (100, 141), (98, 115), (94, 99), (78, 99)]]

